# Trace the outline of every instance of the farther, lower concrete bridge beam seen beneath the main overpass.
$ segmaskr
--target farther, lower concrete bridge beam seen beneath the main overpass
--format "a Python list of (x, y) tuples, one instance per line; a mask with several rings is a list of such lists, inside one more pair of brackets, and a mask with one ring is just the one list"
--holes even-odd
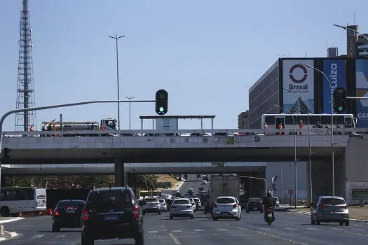
[[(146, 162), (125, 163), (127, 174), (231, 174), (263, 172), (267, 162)], [(114, 174), (114, 164), (2, 165), (8, 175)]]

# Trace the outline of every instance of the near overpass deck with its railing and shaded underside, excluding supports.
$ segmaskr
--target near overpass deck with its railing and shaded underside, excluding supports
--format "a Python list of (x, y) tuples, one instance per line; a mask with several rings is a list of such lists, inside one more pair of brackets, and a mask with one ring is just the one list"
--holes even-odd
[[(341, 129), (340, 131), (348, 129)], [(121, 137), (98, 137), (101, 132), (4, 132), (3, 146), (11, 149), (11, 158), (3, 164), (111, 163), (123, 162), (255, 162), (294, 160), (294, 130), (268, 130), (285, 135), (257, 135), (263, 130), (131, 130)], [(298, 158), (308, 160), (308, 130), (296, 136)], [(336, 130), (337, 131), (337, 130)], [(234, 136), (229, 132), (256, 134)], [(314, 157), (330, 155), (331, 136), (311, 135)], [(96, 137), (65, 137), (67, 134), (94, 134)], [(114, 133), (114, 132), (113, 132)], [(181, 136), (179, 134), (224, 134)], [(64, 137), (39, 137), (63, 135)], [(126, 137), (131, 134), (134, 136)], [(147, 134), (150, 136), (139, 136)], [(168, 136), (171, 135), (171, 136)], [(20, 137), (23, 136), (23, 137)], [(334, 136), (334, 150), (341, 155), (348, 135)]]

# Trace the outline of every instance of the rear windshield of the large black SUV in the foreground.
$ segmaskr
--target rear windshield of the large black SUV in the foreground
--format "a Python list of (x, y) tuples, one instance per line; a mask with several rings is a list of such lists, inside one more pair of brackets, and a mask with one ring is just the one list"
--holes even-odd
[(95, 191), (88, 197), (88, 208), (97, 212), (123, 211), (130, 207), (132, 200), (124, 190)]

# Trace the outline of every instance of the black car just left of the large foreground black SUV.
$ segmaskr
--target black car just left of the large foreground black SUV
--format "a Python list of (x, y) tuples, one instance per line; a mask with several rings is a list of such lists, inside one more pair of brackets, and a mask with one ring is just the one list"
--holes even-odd
[(60, 200), (53, 211), (52, 230), (60, 228), (81, 228), (81, 214), (86, 202), (83, 200)]

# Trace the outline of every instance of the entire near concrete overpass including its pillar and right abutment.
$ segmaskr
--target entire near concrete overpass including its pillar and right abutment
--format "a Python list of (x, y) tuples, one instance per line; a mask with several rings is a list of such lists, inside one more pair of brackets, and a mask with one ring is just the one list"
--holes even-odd
[[(308, 130), (130, 130), (121, 137), (99, 137), (101, 132), (4, 132), (3, 147), (10, 148), (10, 158), (3, 165), (29, 165), (53, 163), (111, 163), (114, 162), (116, 185), (123, 184), (124, 162), (286, 162), (294, 161), (294, 139), (297, 158), (308, 161), (311, 143), (313, 197), (332, 194), (334, 175), (335, 194), (352, 203), (352, 192), (368, 186), (368, 153), (366, 134), (362, 136), (344, 132), (368, 132), (368, 129), (334, 129), (342, 135), (331, 135), (327, 129), (313, 129), (309, 141)], [(240, 132), (248, 135), (231, 135)], [(315, 134), (320, 132), (320, 134)], [(95, 134), (96, 137), (66, 137), (67, 134)], [(182, 136), (195, 133), (200, 136)], [(211, 136), (202, 136), (210, 133)], [(62, 137), (44, 137), (47, 134)], [(125, 135), (132, 135), (126, 137)], [(146, 134), (147, 136), (140, 136)], [(219, 135), (222, 134), (222, 135)], [(255, 134), (255, 135), (254, 135)], [(39, 136), (43, 137), (39, 137)], [(23, 136), (23, 137), (20, 137)], [(294, 138), (295, 137), (295, 138)], [(332, 145), (334, 146), (334, 172), (332, 172)], [(309, 193), (310, 194), (310, 193)]]

